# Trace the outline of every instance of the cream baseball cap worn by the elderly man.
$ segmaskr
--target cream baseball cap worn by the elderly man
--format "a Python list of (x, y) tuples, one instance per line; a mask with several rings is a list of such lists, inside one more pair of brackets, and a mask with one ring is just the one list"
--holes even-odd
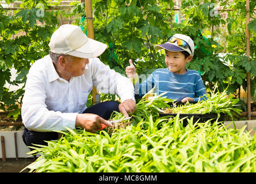
[(64, 24), (60, 26), (49, 43), (51, 52), (66, 55), (92, 58), (101, 55), (107, 48), (106, 44), (89, 39), (77, 25)]

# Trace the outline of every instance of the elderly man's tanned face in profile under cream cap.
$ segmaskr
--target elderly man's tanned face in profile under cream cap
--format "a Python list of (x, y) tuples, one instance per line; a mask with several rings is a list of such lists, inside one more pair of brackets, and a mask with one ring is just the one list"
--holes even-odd
[(66, 56), (65, 72), (70, 76), (80, 76), (84, 74), (86, 64), (89, 63), (88, 59)]

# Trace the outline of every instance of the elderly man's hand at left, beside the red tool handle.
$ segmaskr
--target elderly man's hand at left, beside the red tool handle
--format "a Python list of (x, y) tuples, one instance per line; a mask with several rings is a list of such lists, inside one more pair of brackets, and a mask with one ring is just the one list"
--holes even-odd
[(95, 133), (102, 126), (101, 124), (107, 125), (107, 127), (112, 127), (112, 124), (104, 120), (102, 117), (99, 117), (97, 114), (77, 114), (76, 116), (76, 127), (81, 127), (86, 129), (87, 132)]

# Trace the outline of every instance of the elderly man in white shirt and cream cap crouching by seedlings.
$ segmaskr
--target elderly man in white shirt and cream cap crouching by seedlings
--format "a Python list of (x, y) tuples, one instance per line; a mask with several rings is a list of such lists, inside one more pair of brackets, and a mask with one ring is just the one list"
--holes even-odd
[[(135, 112), (131, 81), (97, 58), (106, 44), (89, 39), (79, 26), (66, 24), (53, 33), (49, 47), (50, 55), (32, 64), (27, 75), (21, 107), (26, 145), (58, 139), (53, 131), (65, 127), (95, 133), (101, 124), (112, 126), (107, 119), (114, 110), (124, 116)], [(87, 108), (92, 86), (119, 95), (121, 104), (107, 101)]]

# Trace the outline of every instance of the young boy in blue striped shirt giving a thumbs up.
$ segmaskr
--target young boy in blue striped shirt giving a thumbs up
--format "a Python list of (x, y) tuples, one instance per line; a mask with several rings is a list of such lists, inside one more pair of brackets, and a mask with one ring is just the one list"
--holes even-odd
[(155, 86), (157, 95), (167, 92), (167, 98), (176, 101), (198, 101), (199, 97), (203, 99), (206, 90), (201, 76), (197, 71), (185, 68), (194, 55), (192, 39), (184, 34), (175, 34), (166, 43), (155, 45), (154, 48), (165, 49), (165, 63), (168, 68), (155, 70), (146, 81), (139, 84), (136, 68), (130, 59), (130, 66), (125, 72), (135, 84), (135, 98), (142, 97)]

